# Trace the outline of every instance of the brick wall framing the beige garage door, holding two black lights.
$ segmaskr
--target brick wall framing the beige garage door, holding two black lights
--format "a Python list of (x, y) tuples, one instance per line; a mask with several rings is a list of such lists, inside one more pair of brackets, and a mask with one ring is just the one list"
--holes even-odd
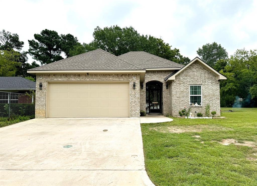
[[(42, 77), (40, 79), (39, 77)], [(135, 78), (133, 78), (135, 77)], [(127, 81), (130, 82), (130, 117), (140, 116), (139, 74), (44, 74), (36, 76), (35, 118), (45, 118), (48, 81)], [(133, 82), (136, 88), (133, 89)], [(39, 90), (42, 83), (42, 90)]]

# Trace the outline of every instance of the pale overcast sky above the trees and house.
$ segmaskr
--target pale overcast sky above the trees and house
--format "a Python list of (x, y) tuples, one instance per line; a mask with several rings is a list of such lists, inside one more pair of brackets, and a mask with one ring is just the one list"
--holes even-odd
[[(96, 26), (133, 26), (140, 34), (161, 37), (193, 59), (196, 50), (217, 42), (232, 55), (257, 49), (257, 1), (1, 1), (0, 30), (24, 41), (44, 29), (93, 40)], [(32, 58), (29, 58), (32, 62)]]

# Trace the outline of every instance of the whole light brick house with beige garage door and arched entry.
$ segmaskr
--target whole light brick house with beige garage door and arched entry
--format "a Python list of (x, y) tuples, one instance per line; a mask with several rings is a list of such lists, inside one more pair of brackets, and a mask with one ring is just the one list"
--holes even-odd
[(183, 66), (147, 52), (114, 56), (102, 49), (29, 69), (36, 75), (36, 118), (139, 117), (207, 103), (220, 115), (219, 80), (200, 58)]

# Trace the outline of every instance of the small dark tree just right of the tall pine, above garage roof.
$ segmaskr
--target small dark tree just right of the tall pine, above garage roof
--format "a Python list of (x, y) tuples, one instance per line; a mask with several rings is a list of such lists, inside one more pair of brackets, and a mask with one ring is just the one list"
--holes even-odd
[(74, 37), (71, 34), (61, 34), (61, 50), (65, 53), (66, 57), (70, 57), (71, 48), (76, 46), (77, 44), (77, 37)]

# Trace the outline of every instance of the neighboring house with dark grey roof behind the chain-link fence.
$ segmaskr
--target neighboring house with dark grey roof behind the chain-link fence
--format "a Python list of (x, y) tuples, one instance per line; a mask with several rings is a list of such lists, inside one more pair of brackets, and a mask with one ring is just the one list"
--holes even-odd
[[(24, 95), (25, 92), (36, 90), (36, 82), (30, 81), (24, 77), (0, 77), (0, 103), (31, 103), (32, 98)], [(6, 92), (13, 92), (19, 94), (11, 94)]]

